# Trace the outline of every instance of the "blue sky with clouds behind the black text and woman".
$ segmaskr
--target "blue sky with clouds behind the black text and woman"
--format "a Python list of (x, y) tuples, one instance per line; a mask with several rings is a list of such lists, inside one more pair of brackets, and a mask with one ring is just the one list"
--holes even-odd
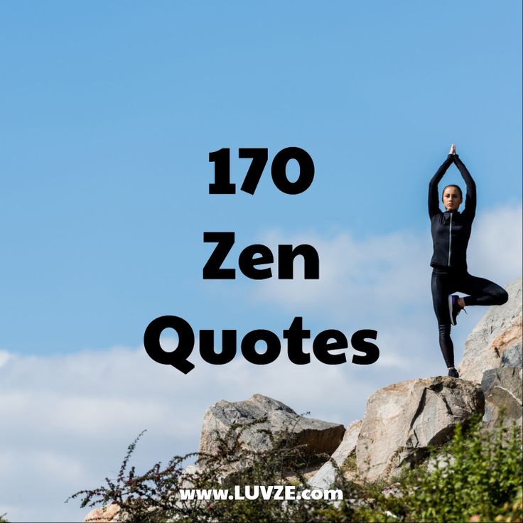
[[(107, 456), (117, 468), (141, 428), (151, 433), (144, 463), (162, 458), (155, 448), (163, 458), (193, 450), (205, 409), (222, 397), (277, 393), (297, 411), (347, 425), (377, 387), (443, 372), (428, 287), (428, 180), (454, 142), (478, 184), (471, 272), (502, 285), (518, 276), (521, 20), (518, 2), (2, 2), (0, 406), (13, 428), (0, 436), (3, 448), (77, 470), (69, 490), (58, 489), (61, 504), (71, 488), (109, 473)], [(239, 186), (248, 162), (238, 148), (267, 148), (271, 161), (288, 146), (315, 163), (305, 193), (280, 193), (267, 166), (254, 196), (208, 194), (211, 151), (231, 149)], [(463, 185), (455, 168), (445, 180)], [(203, 281), (212, 249), (204, 231), (236, 233), (231, 263), (248, 244), (311, 243), (320, 281)], [(457, 347), (484, 312), (456, 330)], [(294, 316), (313, 335), (372, 328), (381, 362), (314, 366), (316, 387), (301, 394), (296, 369), (274, 389), (284, 354), (264, 369), (199, 362), (182, 376), (141, 347), (146, 325), (165, 314), (240, 335), (281, 334)], [(232, 387), (240, 370), (245, 380)], [(100, 372), (114, 389), (96, 395), (90, 380)], [(39, 395), (69, 399), (58, 409), (67, 419), (92, 401), (93, 415), (110, 419), (113, 399), (120, 409), (134, 398), (134, 389), (117, 393), (129, 376), (149, 406), (185, 389), (193, 400), (166, 404), (153, 420), (134, 416), (107, 447), (97, 431), (80, 430), (80, 457), (72, 445), (65, 458), (63, 443), (55, 448), (42, 434), (16, 446), (17, 416), (28, 431), (41, 425), (28, 411), (11, 412), (10, 394), (26, 406)], [(200, 379), (210, 380), (205, 391)], [(332, 379), (358, 398), (331, 404), (323, 387)], [(167, 430), (163, 416), (177, 424)], [(96, 470), (89, 445), (106, 456)], [(43, 463), (31, 465), (35, 476), (38, 466), (47, 477), (66, 466), (32, 463)], [(81, 513), (57, 512), (53, 502), (39, 500), (48, 512), (38, 517)], [(0, 495), (5, 510), (14, 521), (38, 513)]]

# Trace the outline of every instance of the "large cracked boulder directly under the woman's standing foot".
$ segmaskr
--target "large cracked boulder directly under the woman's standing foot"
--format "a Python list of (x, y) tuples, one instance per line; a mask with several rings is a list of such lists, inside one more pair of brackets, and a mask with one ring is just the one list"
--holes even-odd
[(379, 389), (367, 400), (356, 446), (360, 478), (394, 478), (401, 468), (445, 443), (470, 414), (483, 413), (481, 387), (463, 379), (414, 379)]

